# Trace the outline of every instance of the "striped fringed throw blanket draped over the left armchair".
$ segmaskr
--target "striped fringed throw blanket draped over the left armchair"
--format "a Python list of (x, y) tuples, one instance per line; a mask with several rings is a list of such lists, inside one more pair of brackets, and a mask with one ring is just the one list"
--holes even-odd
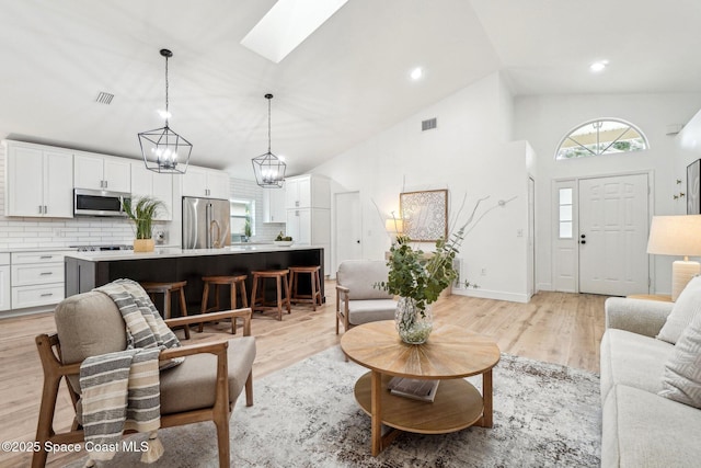
[[(125, 430), (150, 432), (142, 461), (156, 461), (162, 454), (157, 438), (161, 425), (158, 356), (163, 349), (180, 346), (141, 286), (117, 279), (96, 288), (117, 305), (127, 331), (127, 349), (88, 357), (80, 367), (82, 422), (87, 466), (108, 460), (118, 452)], [(172, 359), (161, 368), (184, 358)]]

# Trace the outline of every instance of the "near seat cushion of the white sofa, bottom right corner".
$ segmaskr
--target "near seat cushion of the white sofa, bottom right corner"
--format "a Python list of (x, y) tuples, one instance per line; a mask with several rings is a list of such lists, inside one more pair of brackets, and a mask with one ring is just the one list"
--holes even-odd
[(602, 467), (689, 467), (701, 459), (701, 411), (617, 385), (602, 408)]

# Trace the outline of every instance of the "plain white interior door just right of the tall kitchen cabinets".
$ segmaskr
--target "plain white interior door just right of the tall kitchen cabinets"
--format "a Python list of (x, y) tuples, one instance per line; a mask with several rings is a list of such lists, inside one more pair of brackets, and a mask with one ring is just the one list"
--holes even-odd
[(360, 219), (359, 192), (345, 192), (335, 194), (335, 233), (337, 269), (344, 260), (363, 259), (363, 222)]

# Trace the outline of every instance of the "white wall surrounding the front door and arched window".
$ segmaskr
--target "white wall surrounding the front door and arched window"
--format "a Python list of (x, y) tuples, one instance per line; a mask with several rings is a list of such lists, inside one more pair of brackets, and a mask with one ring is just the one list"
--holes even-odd
[[(539, 289), (553, 284), (551, 233), (553, 220), (552, 181), (633, 171), (652, 171), (653, 214), (685, 213), (685, 202), (674, 201), (686, 179), (676, 162), (677, 138), (667, 126), (685, 124), (701, 107), (701, 94), (543, 95), (515, 99), (514, 136), (530, 142), (537, 155), (537, 282)], [(651, 148), (646, 151), (555, 161), (561, 138), (579, 124), (599, 117), (623, 118), (640, 127)], [(701, 124), (700, 124), (701, 125)], [(700, 138), (701, 139), (701, 138)], [(686, 165), (685, 165), (686, 168)], [(654, 259), (653, 293), (670, 290), (670, 262)]]

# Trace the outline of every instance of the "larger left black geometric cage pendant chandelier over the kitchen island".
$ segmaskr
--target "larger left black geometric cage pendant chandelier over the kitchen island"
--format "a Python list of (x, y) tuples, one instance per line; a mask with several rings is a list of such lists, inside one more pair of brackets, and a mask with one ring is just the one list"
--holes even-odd
[(165, 174), (184, 174), (193, 146), (168, 126), (171, 116), (168, 111), (168, 59), (173, 53), (163, 48), (161, 56), (165, 57), (165, 126), (140, 133), (139, 145), (146, 169)]

